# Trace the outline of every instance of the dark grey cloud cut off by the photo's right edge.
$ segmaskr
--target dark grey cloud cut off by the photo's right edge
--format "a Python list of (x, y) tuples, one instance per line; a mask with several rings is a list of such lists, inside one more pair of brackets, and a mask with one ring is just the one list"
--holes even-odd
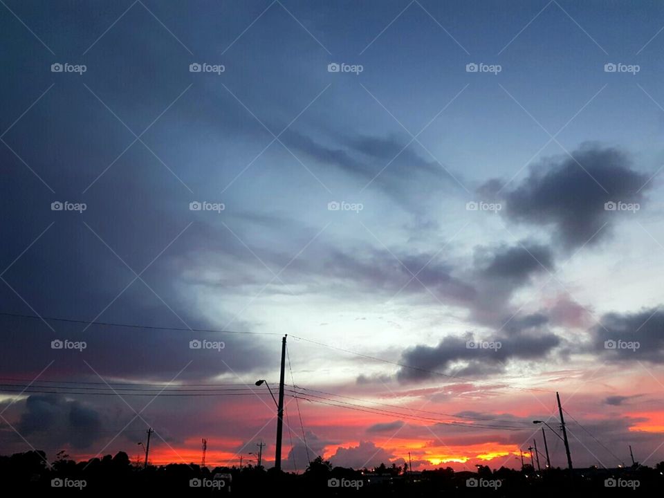
[(615, 361), (664, 363), (664, 311), (607, 313), (591, 329), (592, 349)]

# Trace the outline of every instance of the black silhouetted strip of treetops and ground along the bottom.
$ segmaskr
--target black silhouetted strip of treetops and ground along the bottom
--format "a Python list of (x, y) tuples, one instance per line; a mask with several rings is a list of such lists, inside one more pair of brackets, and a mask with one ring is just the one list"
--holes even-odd
[[(373, 470), (332, 468), (317, 457), (302, 474), (244, 468), (201, 468), (194, 463), (132, 464), (124, 452), (115, 457), (75, 462), (62, 452), (48, 463), (42, 451), (0, 457), (3, 488), (35, 495), (118, 495), (167, 492), (169, 495), (256, 497), (279, 491), (295, 497), (660, 497), (664, 490), (664, 462), (655, 468), (551, 469), (454, 472), (451, 468), (408, 472), (381, 464)], [(10, 484), (9, 484), (10, 483)]]

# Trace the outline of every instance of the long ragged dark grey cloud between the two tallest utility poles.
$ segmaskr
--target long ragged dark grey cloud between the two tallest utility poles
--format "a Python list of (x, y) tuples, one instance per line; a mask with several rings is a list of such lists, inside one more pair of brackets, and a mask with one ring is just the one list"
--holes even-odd
[(503, 371), (510, 360), (544, 358), (561, 342), (557, 335), (546, 330), (501, 334), (488, 339), (495, 347), (481, 347), (481, 341), (468, 333), (463, 337), (449, 335), (434, 347), (409, 348), (401, 356), (400, 362), (406, 367), (400, 367), (397, 378), (401, 381), (434, 378), (436, 374), (432, 371), (454, 376), (488, 376)]

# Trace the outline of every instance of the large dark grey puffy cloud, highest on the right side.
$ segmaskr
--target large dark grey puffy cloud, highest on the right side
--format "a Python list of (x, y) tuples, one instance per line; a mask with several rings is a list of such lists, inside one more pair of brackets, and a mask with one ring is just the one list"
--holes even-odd
[[(513, 221), (551, 226), (554, 241), (565, 248), (605, 239), (623, 213), (605, 210), (607, 202), (639, 203), (652, 185), (648, 176), (632, 169), (618, 149), (585, 145), (557, 160), (531, 168), (529, 176), (513, 190), (501, 192), (507, 204), (503, 212)], [(493, 180), (484, 191), (497, 192)], [(626, 212), (623, 216), (633, 216)], [(602, 225), (609, 223), (592, 240)]]

